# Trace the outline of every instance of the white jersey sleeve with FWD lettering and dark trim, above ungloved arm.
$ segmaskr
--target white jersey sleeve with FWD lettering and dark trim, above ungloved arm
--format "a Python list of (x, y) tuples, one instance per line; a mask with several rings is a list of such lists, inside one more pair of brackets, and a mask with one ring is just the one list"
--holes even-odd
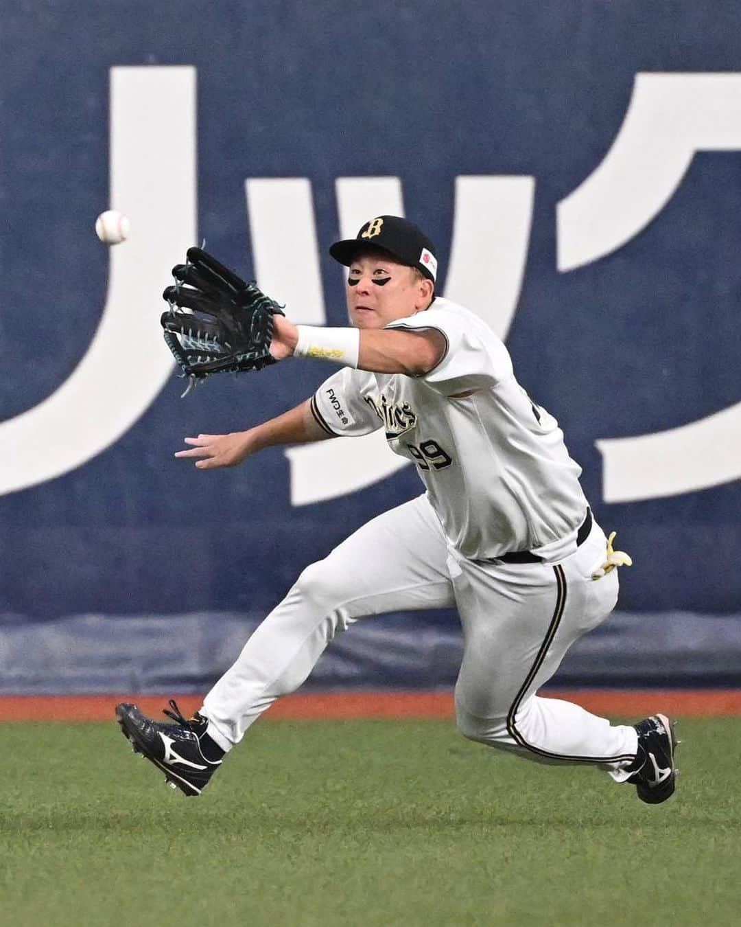
[(377, 431), (382, 420), (365, 400), (375, 378), (364, 370), (343, 367), (325, 380), (311, 397), (311, 414), (329, 435), (359, 438)]

